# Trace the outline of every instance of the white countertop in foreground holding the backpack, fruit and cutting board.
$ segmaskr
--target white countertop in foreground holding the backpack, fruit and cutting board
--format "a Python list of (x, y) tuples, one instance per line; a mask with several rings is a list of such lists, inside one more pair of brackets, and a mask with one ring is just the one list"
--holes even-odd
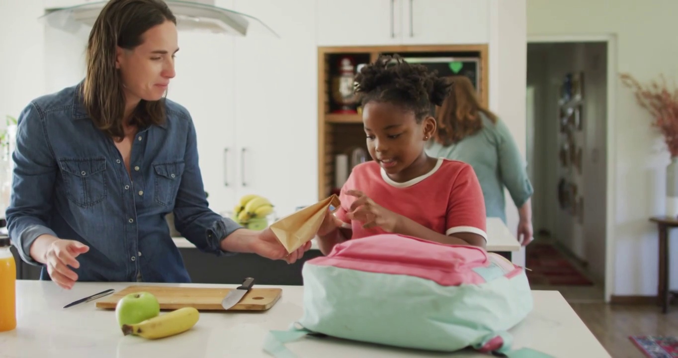
[[(51, 281), (18, 281), (18, 325), (16, 330), (0, 333), (0, 357), (270, 358), (262, 351), (268, 330), (286, 330), (302, 315), (303, 287), (275, 286), (281, 287), (283, 294), (268, 311), (201, 313), (197, 325), (190, 331), (153, 341), (123, 336), (115, 311), (97, 309), (94, 301), (62, 309), (79, 298), (108, 288), (122, 290), (132, 284), (136, 283), (79, 282), (68, 291)], [(510, 331), (513, 349), (526, 346), (554, 357), (610, 357), (559, 292), (534, 291), (533, 294), (534, 311)], [(488, 357), (473, 351), (441, 355), (331, 338), (302, 338), (287, 347), (300, 358)]]

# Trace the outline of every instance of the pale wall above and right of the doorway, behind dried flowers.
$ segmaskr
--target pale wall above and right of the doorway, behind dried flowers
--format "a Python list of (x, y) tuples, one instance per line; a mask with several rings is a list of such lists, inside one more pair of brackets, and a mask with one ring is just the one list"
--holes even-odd
[[(616, 69), (640, 81), (678, 75), (675, 22), (678, 2), (654, 0), (527, 1), (529, 37), (614, 35)], [(608, 228), (614, 248), (614, 295), (655, 295), (658, 244), (656, 227), (648, 218), (664, 212), (665, 167), (669, 154), (662, 138), (650, 127), (650, 117), (637, 105), (630, 90), (614, 79), (614, 137), (610, 157), (614, 178), (612, 222)], [(676, 247), (676, 234), (671, 246)], [(673, 250), (675, 252), (675, 250)], [(677, 272), (673, 255), (671, 271)], [(671, 277), (678, 285), (678, 275)]]

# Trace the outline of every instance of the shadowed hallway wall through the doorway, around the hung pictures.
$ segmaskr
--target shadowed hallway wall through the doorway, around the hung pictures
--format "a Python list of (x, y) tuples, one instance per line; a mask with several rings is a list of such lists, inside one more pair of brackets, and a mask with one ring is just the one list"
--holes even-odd
[[(599, 282), (605, 277), (605, 95), (607, 91), (604, 43), (530, 44), (527, 51), (527, 84), (534, 87), (535, 211), (534, 227), (546, 229), (572, 254), (589, 262)], [(584, 73), (583, 125), (574, 132), (582, 148), (582, 172), (559, 163), (565, 136), (559, 128), (558, 98), (565, 74)], [(557, 186), (567, 178), (584, 197), (584, 222), (561, 209)]]

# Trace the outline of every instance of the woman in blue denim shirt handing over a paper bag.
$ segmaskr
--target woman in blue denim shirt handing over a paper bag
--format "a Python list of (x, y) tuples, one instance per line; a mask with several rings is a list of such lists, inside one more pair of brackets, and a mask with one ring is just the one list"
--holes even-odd
[(66, 289), (190, 281), (169, 212), (203, 252), (294, 262), (310, 248), (287, 255), (270, 229), (208, 208), (191, 115), (164, 98), (178, 49), (163, 1), (111, 0), (89, 35), (85, 79), (20, 114), (7, 225), (22, 259), (43, 266), (41, 279)]

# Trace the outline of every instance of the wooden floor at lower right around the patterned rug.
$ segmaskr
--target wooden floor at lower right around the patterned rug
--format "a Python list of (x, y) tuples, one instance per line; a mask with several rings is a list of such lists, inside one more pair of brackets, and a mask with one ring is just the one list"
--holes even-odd
[(666, 315), (654, 305), (570, 302), (570, 306), (614, 358), (645, 357), (629, 336), (678, 336), (678, 306), (675, 305)]

